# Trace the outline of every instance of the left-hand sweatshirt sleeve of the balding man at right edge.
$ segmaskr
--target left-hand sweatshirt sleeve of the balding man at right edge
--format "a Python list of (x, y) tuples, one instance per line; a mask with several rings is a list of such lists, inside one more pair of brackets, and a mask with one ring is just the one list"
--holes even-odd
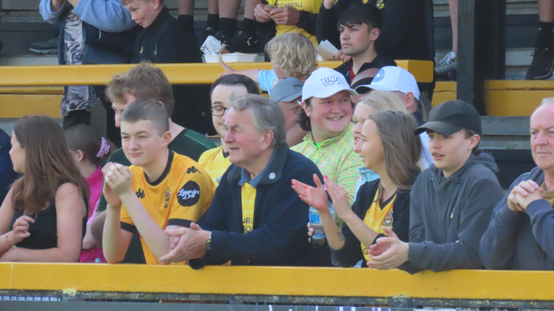
[[(526, 176), (526, 177), (524, 177)], [(502, 201), (496, 205), (488, 229), (481, 237), (479, 255), (487, 269), (509, 269), (515, 255), (515, 236), (520, 227), (522, 212), (510, 210), (507, 204), (508, 195), (514, 186), (527, 180), (529, 174), (517, 178)]]

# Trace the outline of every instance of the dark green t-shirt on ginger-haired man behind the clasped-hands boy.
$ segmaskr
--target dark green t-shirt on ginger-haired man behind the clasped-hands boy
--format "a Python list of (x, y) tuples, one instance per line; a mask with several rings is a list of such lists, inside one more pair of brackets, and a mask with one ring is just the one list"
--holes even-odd
[[(209, 138), (201, 133), (195, 132), (192, 129), (185, 128), (181, 133), (167, 145), (167, 147), (178, 154), (186, 155), (187, 157), (198, 162), (200, 155), (208, 149), (216, 148), (216, 144)], [(122, 148), (112, 152), (108, 162), (119, 163), (122, 165), (130, 166), (131, 162), (125, 157), (125, 153)], [(107, 209), (107, 201), (104, 198), (104, 194), (100, 196), (97, 211), (105, 211)], [(140, 243), (139, 235), (134, 234), (133, 239), (127, 249), (127, 254), (122, 263), (146, 263), (144, 254), (142, 252), (142, 246)]]

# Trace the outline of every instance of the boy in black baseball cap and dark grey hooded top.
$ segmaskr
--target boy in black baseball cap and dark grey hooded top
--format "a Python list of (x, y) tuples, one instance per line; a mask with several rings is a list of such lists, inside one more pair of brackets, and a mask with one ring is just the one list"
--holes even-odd
[(429, 112), (416, 134), (423, 131), (434, 164), (411, 190), (409, 242), (386, 229), (367, 265), (409, 273), (483, 268), (479, 242), (503, 191), (493, 156), (478, 148), (479, 113), (463, 101), (447, 101)]

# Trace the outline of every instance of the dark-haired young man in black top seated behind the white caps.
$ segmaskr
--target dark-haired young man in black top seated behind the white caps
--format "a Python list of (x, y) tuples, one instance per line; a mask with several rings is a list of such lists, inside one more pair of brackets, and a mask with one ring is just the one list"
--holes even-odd
[(375, 49), (382, 23), (379, 9), (366, 4), (348, 7), (338, 18), (342, 53), (350, 56), (350, 59), (335, 70), (345, 76), (348, 85), (358, 72), (370, 68), (396, 66), (394, 59), (385, 54), (377, 54)]

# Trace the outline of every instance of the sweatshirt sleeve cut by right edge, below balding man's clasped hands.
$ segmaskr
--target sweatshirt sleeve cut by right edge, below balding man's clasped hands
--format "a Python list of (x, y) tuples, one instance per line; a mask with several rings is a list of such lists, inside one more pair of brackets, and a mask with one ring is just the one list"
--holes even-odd
[(538, 245), (550, 260), (554, 260), (554, 209), (547, 200), (540, 199), (529, 203), (525, 212), (531, 217), (533, 235)]

